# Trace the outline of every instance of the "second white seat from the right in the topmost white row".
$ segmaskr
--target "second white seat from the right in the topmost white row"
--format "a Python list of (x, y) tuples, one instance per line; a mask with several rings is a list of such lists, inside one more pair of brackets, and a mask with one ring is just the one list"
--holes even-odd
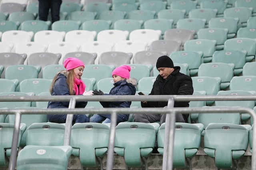
[(125, 41), (128, 38), (129, 32), (117, 29), (107, 29), (100, 31), (97, 35), (97, 41), (106, 41), (114, 43)]

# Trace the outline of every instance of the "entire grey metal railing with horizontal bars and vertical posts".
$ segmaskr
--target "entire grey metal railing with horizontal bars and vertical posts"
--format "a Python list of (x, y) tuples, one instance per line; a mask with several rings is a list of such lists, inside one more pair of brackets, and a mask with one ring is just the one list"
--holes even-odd
[[(175, 130), (176, 113), (249, 113), (256, 121), (256, 114), (248, 107), (173, 107), (174, 101), (256, 101), (256, 95), (227, 95), (227, 96), (200, 96), (200, 95), (153, 95), (153, 96), (1, 96), (0, 102), (48, 102), (48, 101), (70, 101), (69, 109), (0, 109), (0, 114), (15, 114), (14, 133), (12, 148), (18, 146), (18, 135), (20, 119), (22, 114), (67, 114), (65, 127), (64, 145), (70, 144), (73, 114), (111, 114), (110, 139), (107, 155), (107, 170), (112, 170), (114, 156), (114, 140), (116, 127), (116, 114), (167, 114), (166, 115), (166, 137), (164, 141), (163, 170), (172, 169), (173, 158), (173, 139)], [(84, 109), (74, 108), (76, 101), (168, 101), (167, 108), (103, 108), (103, 109)], [(14, 170), (16, 166), (17, 150), (12, 149), (10, 155), (9, 170)], [(253, 131), (252, 160), (256, 160), (256, 131)], [(256, 161), (252, 161), (252, 170), (256, 170)]]

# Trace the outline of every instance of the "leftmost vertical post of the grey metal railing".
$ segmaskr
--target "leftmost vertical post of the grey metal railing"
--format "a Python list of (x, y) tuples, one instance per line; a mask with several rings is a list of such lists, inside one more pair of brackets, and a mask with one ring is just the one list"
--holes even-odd
[(12, 149), (11, 149), (10, 164), (9, 164), (8, 170), (15, 170), (15, 166), (16, 166), (18, 139), (19, 139), (19, 133), (20, 133), (20, 119), (21, 119), (21, 114), (19, 111), (17, 111), (15, 113), (14, 129), (12, 134)]

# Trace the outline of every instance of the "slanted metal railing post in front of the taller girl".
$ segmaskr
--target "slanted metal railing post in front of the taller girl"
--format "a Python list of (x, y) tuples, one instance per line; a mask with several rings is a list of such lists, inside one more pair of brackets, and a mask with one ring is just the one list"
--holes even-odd
[[(68, 109), (74, 109), (75, 106), (76, 106), (76, 99), (71, 98)], [(65, 135), (64, 135), (64, 146), (70, 145), (72, 122), (73, 122), (73, 114), (67, 114), (66, 125), (65, 125)]]

